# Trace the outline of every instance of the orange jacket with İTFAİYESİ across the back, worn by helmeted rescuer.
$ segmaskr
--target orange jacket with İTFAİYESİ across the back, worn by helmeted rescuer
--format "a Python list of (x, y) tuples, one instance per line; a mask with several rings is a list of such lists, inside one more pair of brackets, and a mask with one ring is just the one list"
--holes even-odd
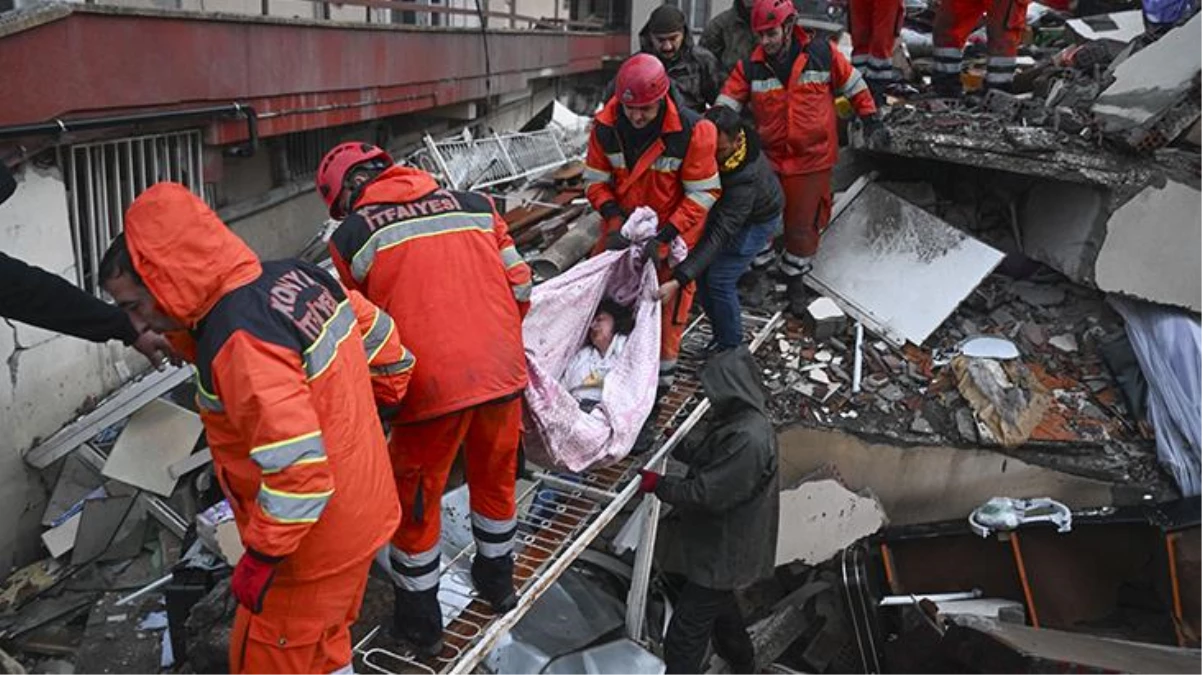
[(488, 197), (440, 190), (426, 172), (392, 167), (363, 187), (329, 251), (343, 282), (392, 316), (422, 364), (397, 423), (525, 388), (530, 268)]

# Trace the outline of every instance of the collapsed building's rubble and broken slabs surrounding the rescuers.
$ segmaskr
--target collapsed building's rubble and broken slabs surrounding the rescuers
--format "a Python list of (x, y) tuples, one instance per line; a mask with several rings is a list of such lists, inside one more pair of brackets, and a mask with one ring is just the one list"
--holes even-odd
[[(1188, 482), (1200, 438), (1178, 410), (1196, 399), (1162, 387), (1197, 362), (1153, 357), (1166, 345), (1155, 327), (1202, 311), (1190, 265), (1202, 64), (1189, 48), (1202, 16), (1147, 44), (1100, 37), (1130, 25), (1107, 20), (1082, 24), (1091, 32), (1075, 34), (1076, 60), (1027, 68), (1030, 92), (897, 101), (886, 148), (852, 131), (810, 280), (821, 297), (805, 317), (785, 317), (779, 297), (748, 309), (785, 486), (776, 575), (740, 598), (766, 667), (1198, 669), (1182, 647), (1202, 639)], [(587, 121), (551, 104), (518, 131), (426, 135), (407, 161), (494, 195), (546, 280), (597, 235), (572, 163)], [(322, 233), (328, 223), (305, 256), (323, 257)], [(704, 434), (695, 374), (707, 338), (696, 317), (653, 456), (528, 467), (513, 613), (495, 616), (470, 591), (453, 490), (450, 646), (421, 659), (393, 641), (387, 581), (373, 579), (357, 668), (662, 668), (672, 597), (650, 562), (659, 507), (636, 500), (631, 477)], [(1196, 359), (1197, 342), (1177, 345)], [(240, 545), (188, 377), (151, 372), (25, 453), (53, 485), (40, 514), (49, 557), (5, 581), (6, 647), (81, 673), (154, 671), (168, 655), (224, 671), (222, 578)]]

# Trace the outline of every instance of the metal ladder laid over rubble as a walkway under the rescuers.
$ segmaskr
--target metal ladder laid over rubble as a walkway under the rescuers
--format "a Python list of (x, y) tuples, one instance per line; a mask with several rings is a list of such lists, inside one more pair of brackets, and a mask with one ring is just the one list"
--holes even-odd
[[(755, 352), (784, 323), (781, 312), (764, 316), (744, 311), (744, 331)], [(471, 590), (466, 563), (474, 544), (466, 544), (440, 574), (439, 601), (444, 617), (442, 653), (424, 659), (416, 653), (397, 653), (376, 646), (381, 627), (371, 629), (356, 646), (355, 653), (367, 671), (385, 675), (428, 673), (466, 675), (482, 663), (498, 641), (522, 620), (538, 598), (601, 534), (638, 494), (637, 471), (659, 471), (671, 453), (709, 410), (701, 395), (698, 370), (702, 351), (710, 330), (704, 317), (692, 322), (682, 339), (677, 381), (661, 408), (656, 426), (667, 441), (650, 455), (627, 456), (584, 473), (540, 471), (518, 492), (518, 537), (514, 550), (514, 585), (518, 604), (505, 615), (496, 615), (488, 603)], [(635, 575), (627, 597), (626, 632), (635, 640), (643, 638), (647, 591), (650, 584), (651, 550), (659, 524), (659, 500), (649, 497), (644, 509), (642, 538), (635, 560)]]

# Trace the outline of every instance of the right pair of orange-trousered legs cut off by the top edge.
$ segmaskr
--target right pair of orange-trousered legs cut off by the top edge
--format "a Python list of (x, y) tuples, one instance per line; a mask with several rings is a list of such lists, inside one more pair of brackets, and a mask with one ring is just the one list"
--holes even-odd
[(984, 85), (1010, 91), (1018, 67), (1018, 46), (1027, 29), (1030, 0), (941, 0), (935, 12), (935, 72), (932, 84), (942, 96), (959, 96), (964, 42), (986, 17), (989, 60)]

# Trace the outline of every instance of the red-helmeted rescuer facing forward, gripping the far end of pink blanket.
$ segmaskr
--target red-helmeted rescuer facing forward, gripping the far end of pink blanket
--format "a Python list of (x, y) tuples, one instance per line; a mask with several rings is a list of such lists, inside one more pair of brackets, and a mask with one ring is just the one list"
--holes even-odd
[[(589, 136), (584, 167), (585, 195), (605, 219), (594, 253), (621, 247), (621, 226), (638, 207), (659, 216), (659, 234), (650, 246), (666, 261), (677, 237), (691, 249), (704, 232), (706, 214), (721, 195), (713, 123), (678, 106), (670, 96), (664, 64), (650, 54), (635, 54), (618, 70), (614, 96), (597, 113)], [(667, 262), (656, 269), (660, 283), (672, 277)], [(689, 319), (694, 283), (665, 298), (660, 329), (660, 388), (676, 376), (680, 336)], [(655, 414), (651, 414), (654, 419)]]

